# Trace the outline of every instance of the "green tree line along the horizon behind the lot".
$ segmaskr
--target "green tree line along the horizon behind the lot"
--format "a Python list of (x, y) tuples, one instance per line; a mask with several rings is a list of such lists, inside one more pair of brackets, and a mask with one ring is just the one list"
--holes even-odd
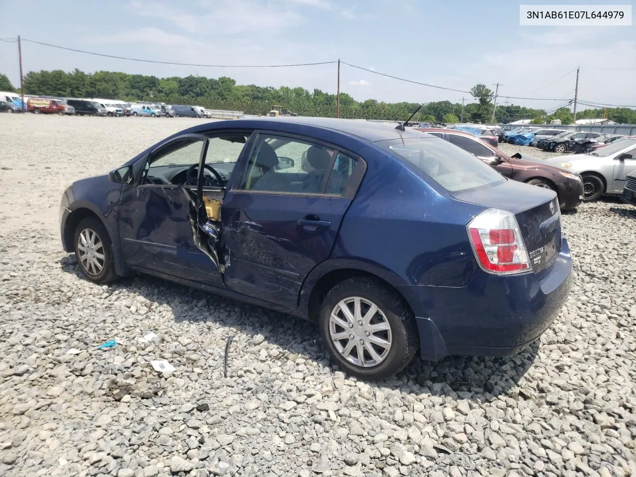
[[(4, 74), (0, 74), (0, 90), (17, 91)], [(24, 93), (62, 97), (99, 97), (165, 102), (167, 104), (196, 104), (209, 109), (230, 109), (247, 114), (266, 114), (273, 104), (279, 104), (301, 116), (336, 116), (336, 95), (314, 89), (281, 86), (237, 85), (228, 76), (205, 78), (204, 76), (170, 76), (157, 78), (143, 74), (127, 74), (114, 71), (84, 73), (75, 69), (31, 71), (24, 77)], [(494, 93), (485, 85), (475, 85), (471, 95), (476, 102), (462, 107), (459, 102), (435, 101), (425, 104), (415, 116), (417, 121), (456, 123), (489, 123), (492, 119)], [(387, 103), (375, 99), (356, 101), (348, 93), (340, 93), (340, 117), (371, 120), (406, 120), (417, 109), (418, 103)], [(563, 108), (569, 111), (567, 108)], [(561, 111), (562, 123), (567, 124), (565, 111)], [(577, 118), (602, 117), (599, 110), (585, 110)], [(571, 114), (571, 113), (570, 113)], [(555, 116), (555, 113), (553, 113)], [(627, 108), (608, 109), (607, 117), (616, 122), (636, 123), (636, 111)], [(543, 109), (514, 104), (497, 104), (495, 122), (508, 123), (520, 119), (550, 118)], [(613, 118), (620, 118), (616, 120)], [(571, 120), (570, 120), (571, 122)]]

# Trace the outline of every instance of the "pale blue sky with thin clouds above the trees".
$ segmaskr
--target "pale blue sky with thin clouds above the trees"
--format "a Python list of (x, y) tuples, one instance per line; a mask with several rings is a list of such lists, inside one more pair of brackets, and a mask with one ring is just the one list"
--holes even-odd
[[(520, 27), (519, 5), (532, 3), (549, 2), (0, 0), (3, 18), (15, 19), (3, 22), (0, 38), (20, 34), (92, 52), (198, 64), (288, 64), (340, 58), (375, 71), (459, 90), (468, 90), (476, 83), (494, 89), (493, 83), (499, 82), (501, 102), (506, 102), (506, 95), (572, 98), (573, 70), (581, 66), (579, 99), (636, 104), (636, 26)], [(576, 4), (565, 0), (558, 3)], [(633, 0), (619, 3), (632, 4), (636, 11)], [(17, 85), (17, 44), (0, 42), (0, 59), (0, 72)], [(335, 65), (274, 69), (167, 66), (106, 59), (26, 42), (23, 60), (25, 73), (41, 69), (72, 71), (77, 67), (160, 77), (230, 76), (239, 84), (336, 90)], [(632, 69), (616, 70), (628, 67)], [(341, 88), (357, 100), (387, 102), (460, 102), (462, 96), (468, 96), (344, 65)], [(509, 102), (536, 107), (558, 104)]]

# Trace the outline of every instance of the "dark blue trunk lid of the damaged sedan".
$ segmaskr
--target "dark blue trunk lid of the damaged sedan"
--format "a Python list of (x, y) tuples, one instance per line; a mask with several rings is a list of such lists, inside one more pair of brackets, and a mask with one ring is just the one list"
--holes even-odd
[(561, 214), (556, 193), (515, 181), (454, 193), (453, 197), (515, 214), (532, 271), (543, 276), (561, 251)]

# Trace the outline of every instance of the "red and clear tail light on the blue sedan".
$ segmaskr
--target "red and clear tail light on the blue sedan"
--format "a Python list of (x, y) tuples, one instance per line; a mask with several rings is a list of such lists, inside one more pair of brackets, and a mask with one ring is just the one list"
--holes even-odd
[(486, 272), (509, 275), (532, 270), (519, 225), (510, 212), (488, 209), (466, 228), (475, 257)]

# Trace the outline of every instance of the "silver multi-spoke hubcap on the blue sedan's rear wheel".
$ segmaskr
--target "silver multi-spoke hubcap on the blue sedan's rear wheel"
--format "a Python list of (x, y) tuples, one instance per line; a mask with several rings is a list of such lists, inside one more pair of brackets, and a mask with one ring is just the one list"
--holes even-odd
[(382, 363), (391, 350), (387, 317), (377, 305), (359, 296), (345, 298), (333, 308), (329, 336), (342, 357), (363, 368)]

